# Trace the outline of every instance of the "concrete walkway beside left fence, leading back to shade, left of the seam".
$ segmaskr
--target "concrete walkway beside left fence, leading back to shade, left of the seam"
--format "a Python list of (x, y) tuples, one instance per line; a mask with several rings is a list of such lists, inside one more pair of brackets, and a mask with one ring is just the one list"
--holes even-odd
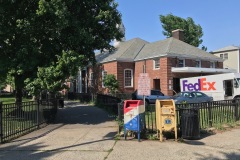
[(117, 123), (84, 105), (59, 109), (55, 124), (0, 145), (0, 160), (103, 160), (115, 145)]

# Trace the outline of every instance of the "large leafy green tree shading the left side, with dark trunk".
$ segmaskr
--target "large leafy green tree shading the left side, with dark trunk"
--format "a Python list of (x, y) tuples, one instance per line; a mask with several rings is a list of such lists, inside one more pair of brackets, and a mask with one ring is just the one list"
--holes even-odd
[(114, 0), (0, 1), (0, 75), (14, 77), (16, 102), (26, 83), (35, 91), (61, 88), (95, 62), (94, 50), (112, 49), (123, 36), (116, 8)]

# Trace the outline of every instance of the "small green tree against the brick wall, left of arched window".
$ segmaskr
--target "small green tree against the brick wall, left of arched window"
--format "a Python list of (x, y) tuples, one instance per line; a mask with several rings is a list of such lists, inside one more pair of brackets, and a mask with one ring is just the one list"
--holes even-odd
[(103, 83), (104, 86), (109, 89), (112, 95), (117, 92), (119, 85), (115, 75), (113, 74), (106, 75), (106, 77), (103, 79)]

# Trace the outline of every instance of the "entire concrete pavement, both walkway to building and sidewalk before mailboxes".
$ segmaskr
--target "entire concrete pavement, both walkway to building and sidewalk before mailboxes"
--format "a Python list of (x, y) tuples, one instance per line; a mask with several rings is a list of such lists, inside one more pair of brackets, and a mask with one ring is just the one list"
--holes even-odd
[(55, 124), (0, 145), (0, 160), (240, 159), (240, 129), (184, 143), (115, 141), (117, 123), (99, 108), (68, 103)]

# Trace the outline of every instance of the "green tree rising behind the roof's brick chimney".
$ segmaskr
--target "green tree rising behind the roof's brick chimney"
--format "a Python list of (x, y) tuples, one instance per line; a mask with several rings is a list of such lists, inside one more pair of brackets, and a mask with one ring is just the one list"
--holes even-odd
[[(182, 29), (184, 31), (184, 42), (199, 47), (203, 42), (201, 39), (203, 36), (202, 27), (195, 24), (192, 18), (188, 17), (186, 19), (168, 14), (166, 16), (160, 15), (160, 21), (164, 31), (163, 35), (167, 37), (172, 36), (172, 31), (176, 29)], [(203, 50), (206, 50), (205, 46), (202, 46)]]

